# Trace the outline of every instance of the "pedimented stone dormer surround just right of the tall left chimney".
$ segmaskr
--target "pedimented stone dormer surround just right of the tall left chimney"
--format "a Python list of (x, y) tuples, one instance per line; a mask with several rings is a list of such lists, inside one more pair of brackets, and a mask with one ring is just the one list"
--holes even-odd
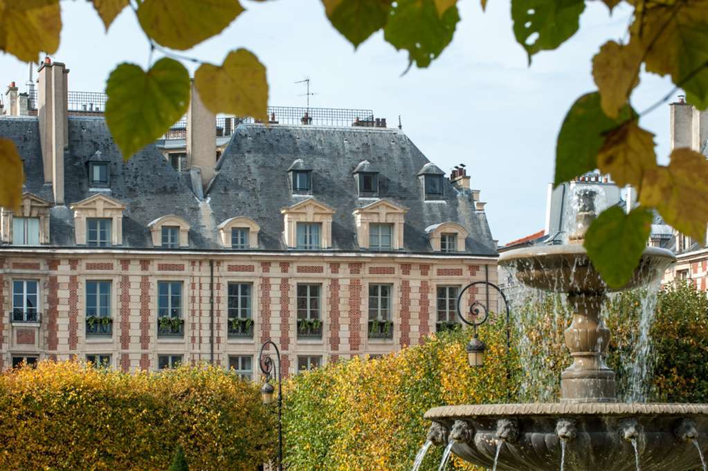
[(103, 194), (82, 199), (69, 205), (74, 211), (74, 237), (76, 245), (86, 245), (86, 219), (111, 219), (110, 245), (123, 243), (123, 211), (125, 206), (113, 198)]

